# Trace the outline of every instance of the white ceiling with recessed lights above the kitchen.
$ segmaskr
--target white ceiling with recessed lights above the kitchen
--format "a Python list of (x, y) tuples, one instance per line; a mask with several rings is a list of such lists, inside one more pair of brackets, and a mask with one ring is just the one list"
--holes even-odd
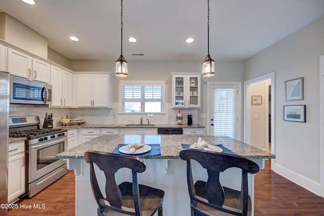
[[(69, 59), (119, 57), (119, 0), (34, 1), (1, 0), (0, 11), (47, 37), (48, 46)], [(243, 60), (324, 16), (324, 0), (211, 0), (210, 11), (211, 57)], [(124, 0), (123, 22), (126, 60), (207, 56), (207, 0)]]

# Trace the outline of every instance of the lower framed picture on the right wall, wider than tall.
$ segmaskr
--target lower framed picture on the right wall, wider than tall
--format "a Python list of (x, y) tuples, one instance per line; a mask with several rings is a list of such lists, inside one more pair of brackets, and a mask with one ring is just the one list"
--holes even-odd
[(306, 105), (284, 106), (284, 121), (306, 122)]

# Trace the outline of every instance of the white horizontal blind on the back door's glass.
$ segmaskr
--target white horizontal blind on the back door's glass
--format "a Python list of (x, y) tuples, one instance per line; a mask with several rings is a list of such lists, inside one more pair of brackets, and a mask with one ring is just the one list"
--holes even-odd
[(214, 136), (236, 137), (236, 92), (235, 88), (214, 89)]

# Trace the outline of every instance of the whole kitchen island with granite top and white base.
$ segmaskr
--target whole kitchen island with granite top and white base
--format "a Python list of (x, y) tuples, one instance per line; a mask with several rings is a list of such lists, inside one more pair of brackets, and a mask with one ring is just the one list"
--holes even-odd
[[(67, 150), (57, 158), (67, 160), (68, 169), (74, 169), (75, 174), (75, 215), (95, 215), (97, 204), (90, 185), (90, 166), (84, 159), (88, 150), (112, 152), (118, 144), (129, 144), (139, 139), (145, 144), (160, 144), (160, 155), (138, 155), (146, 163), (146, 170), (138, 174), (139, 183), (164, 190), (165, 200), (163, 210), (165, 215), (190, 215), (190, 200), (186, 180), (186, 162), (181, 160), (179, 152), (183, 149), (181, 144), (193, 144), (201, 137), (209, 144), (222, 145), (233, 153), (254, 160), (260, 169), (264, 168), (264, 160), (275, 158), (275, 155), (255, 148), (251, 145), (225, 136), (178, 136), (178, 135), (104, 135)], [(193, 163), (199, 167), (198, 163)], [(98, 171), (98, 170), (97, 170)], [(256, 174), (257, 175), (257, 174)], [(225, 186), (240, 189), (240, 170), (229, 168), (221, 176)], [(101, 172), (99, 184), (105, 185), (105, 178)], [(207, 172), (199, 170), (194, 172), (195, 180), (206, 180)], [(116, 174), (117, 184), (131, 181), (131, 171), (123, 168)], [(249, 194), (254, 204), (254, 175), (249, 175)], [(252, 206), (254, 208), (254, 205)]]

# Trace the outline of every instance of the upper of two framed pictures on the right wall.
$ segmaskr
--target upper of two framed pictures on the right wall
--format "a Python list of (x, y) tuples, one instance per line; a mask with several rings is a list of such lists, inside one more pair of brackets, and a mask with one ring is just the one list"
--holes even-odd
[(285, 81), (285, 97), (286, 101), (304, 100), (304, 77)]

